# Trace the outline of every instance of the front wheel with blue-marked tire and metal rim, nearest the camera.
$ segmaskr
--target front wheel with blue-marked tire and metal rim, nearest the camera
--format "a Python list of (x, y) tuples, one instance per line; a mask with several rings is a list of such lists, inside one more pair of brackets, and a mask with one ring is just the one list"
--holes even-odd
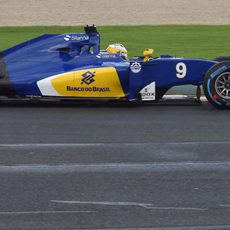
[(204, 94), (217, 108), (230, 108), (230, 62), (214, 65), (205, 75)]

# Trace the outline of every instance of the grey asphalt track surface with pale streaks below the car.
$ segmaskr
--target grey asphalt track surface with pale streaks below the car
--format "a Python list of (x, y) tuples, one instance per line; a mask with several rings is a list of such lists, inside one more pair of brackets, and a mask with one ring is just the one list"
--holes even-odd
[(0, 229), (230, 229), (229, 111), (0, 105)]

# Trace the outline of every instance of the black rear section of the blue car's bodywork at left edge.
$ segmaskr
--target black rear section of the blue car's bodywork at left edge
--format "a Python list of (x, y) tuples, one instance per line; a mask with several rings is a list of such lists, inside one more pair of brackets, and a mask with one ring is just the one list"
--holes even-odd
[(7, 72), (6, 63), (2, 53), (0, 53), (0, 95), (1, 96), (13, 96), (16, 92), (10, 81), (10, 76)]

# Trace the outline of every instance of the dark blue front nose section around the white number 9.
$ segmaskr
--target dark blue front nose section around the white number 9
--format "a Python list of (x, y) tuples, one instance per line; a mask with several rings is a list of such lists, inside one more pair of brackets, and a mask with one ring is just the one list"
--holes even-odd
[[(140, 62), (141, 72), (130, 71), (131, 98), (135, 98), (135, 92), (139, 92), (144, 86), (156, 82), (157, 88), (171, 88), (179, 85), (201, 85), (205, 73), (217, 62), (204, 59), (185, 59), (174, 57), (159, 57), (152, 61)], [(186, 77), (178, 78), (176, 66), (178, 63), (186, 65)], [(132, 64), (132, 63), (131, 63)]]

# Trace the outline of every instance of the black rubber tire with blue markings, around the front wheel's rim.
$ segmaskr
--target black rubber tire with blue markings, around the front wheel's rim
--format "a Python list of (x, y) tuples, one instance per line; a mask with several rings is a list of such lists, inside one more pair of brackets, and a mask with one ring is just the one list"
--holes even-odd
[(217, 78), (227, 72), (230, 72), (230, 61), (217, 63), (208, 70), (204, 77), (204, 94), (207, 100), (218, 109), (230, 109), (230, 99), (221, 97), (215, 89)]

